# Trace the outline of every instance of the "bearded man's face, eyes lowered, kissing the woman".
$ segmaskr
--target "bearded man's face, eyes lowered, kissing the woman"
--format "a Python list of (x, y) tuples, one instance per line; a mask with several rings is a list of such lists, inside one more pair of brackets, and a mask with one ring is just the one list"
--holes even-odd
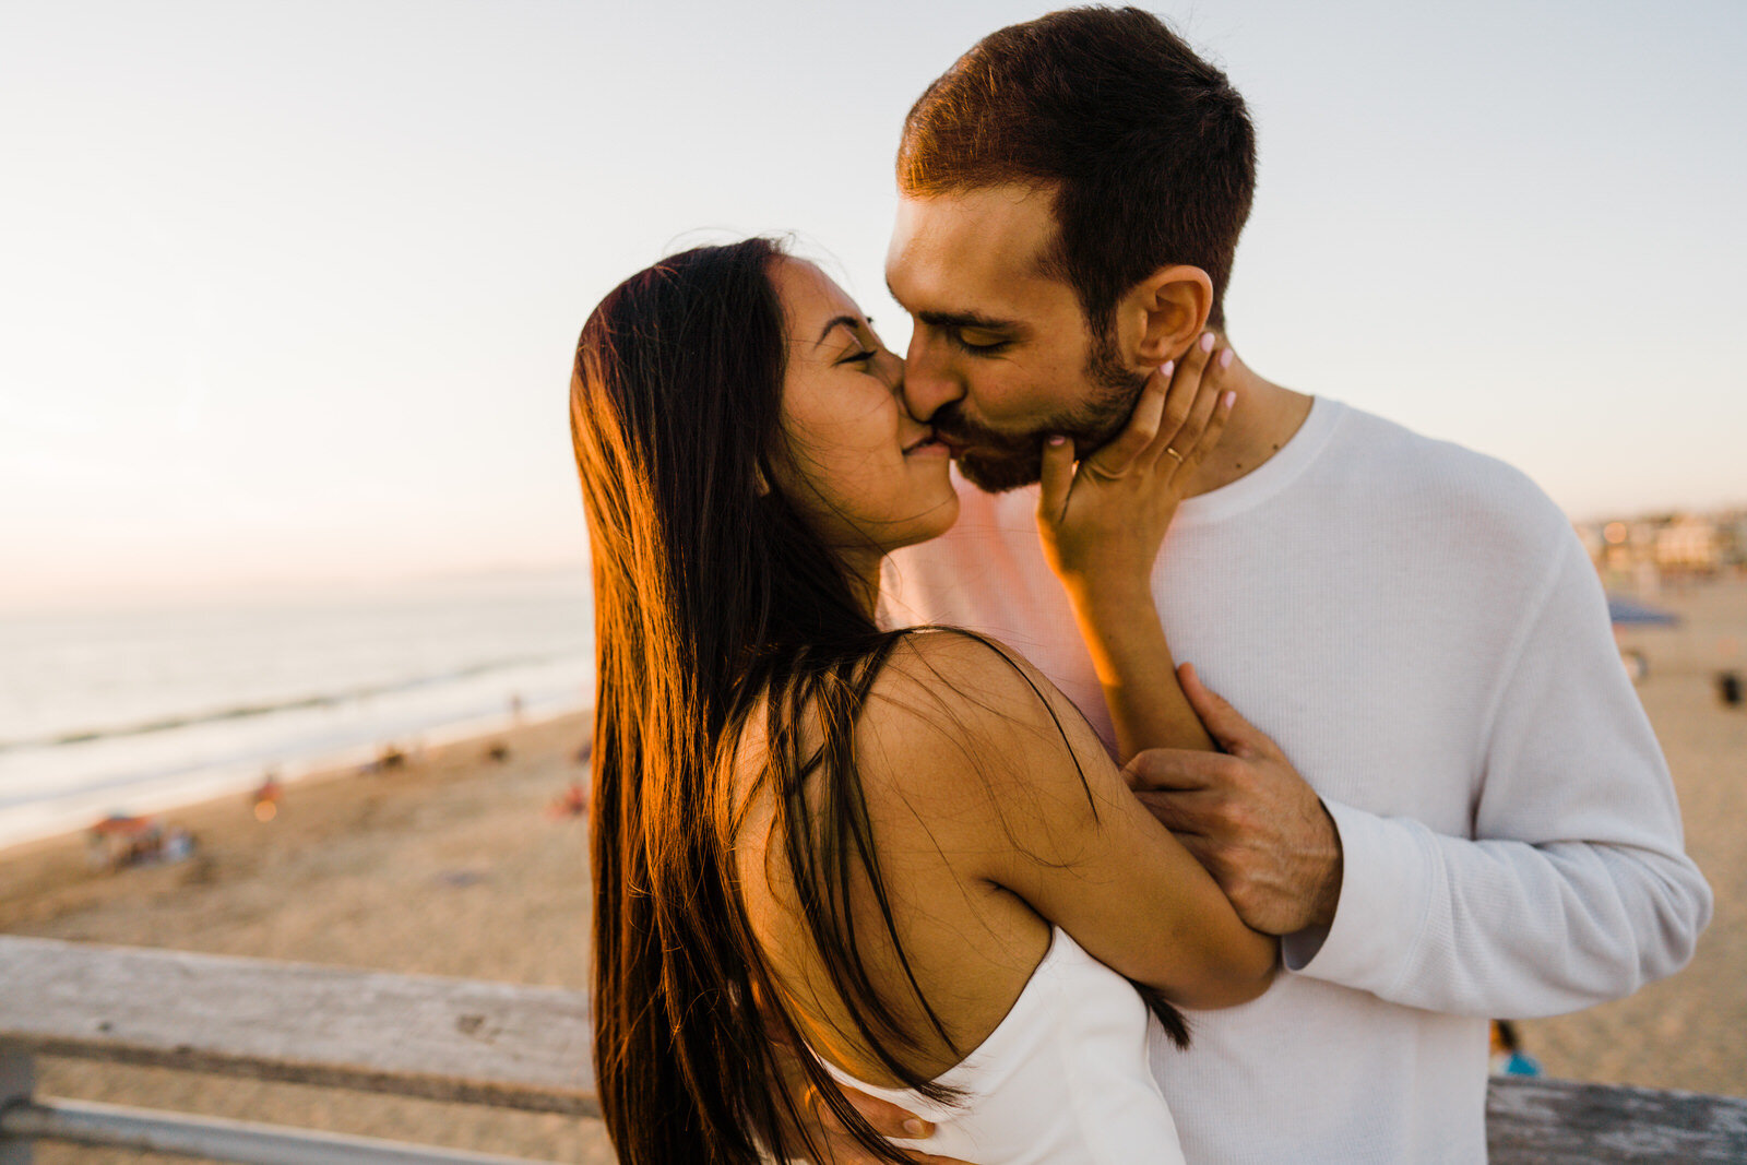
[(905, 403), (987, 491), (1038, 480), (1043, 438), (1081, 454), (1127, 423), (1144, 374), (1094, 337), (1073, 288), (1043, 272), (1046, 190), (1022, 185), (901, 197), (886, 283), (915, 330)]

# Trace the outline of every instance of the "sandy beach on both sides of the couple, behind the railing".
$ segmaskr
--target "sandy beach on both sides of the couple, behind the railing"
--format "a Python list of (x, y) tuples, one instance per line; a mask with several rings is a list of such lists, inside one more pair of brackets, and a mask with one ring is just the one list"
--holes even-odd
[[(1724, 707), (1719, 669), (1747, 671), (1747, 583), (1668, 589), (1682, 617), (1632, 632), (1640, 685), (1674, 770), (1688, 847), (1717, 913), (1698, 957), (1632, 999), (1523, 1024), (1548, 1074), (1747, 1095), (1747, 707)], [(587, 847), (580, 821), (545, 805), (583, 776), (587, 720), (430, 749), (407, 767), (295, 782), (269, 823), (246, 798), (166, 814), (201, 842), (194, 859), (94, 872), (84, 840), (0, 854), (0, 931), (582, 989)], [(162, 1069), (42, 1062), (51, 1095), (426, 1141), (552, 1162), (610, 1162), (594, 1121), (475, 1106), (215, 1079)], [(42, 1146), (44, 1165), (143, 1160)], [(169, 1158), (154, 1158), (169, 1160)]]

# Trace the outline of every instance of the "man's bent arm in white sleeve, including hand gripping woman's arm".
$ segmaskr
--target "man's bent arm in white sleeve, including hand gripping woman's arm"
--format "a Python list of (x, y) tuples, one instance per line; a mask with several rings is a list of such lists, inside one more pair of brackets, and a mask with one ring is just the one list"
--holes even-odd
[[(1532, 1017), (1626, 996), (1691, 959), (1710, 889), (1682, 852), (1667, 765), (1576, 538), (1501, 672), (1474, 840), (1336, 802), (1319, 802), (1321, 823), (1258, 814), (1314, 793), (1223, 700), (1184, 686), (1247, 758), (1143, 755), (1130, 782), (1157, 789), (1143, 800), (1251, 926), (1284, 934), (1288, 969), (1417, 1008)], [(1281, 830), (1282, 816), (1302, 821)], [(1315, 905), (1329, 879), (1333, 917)]]

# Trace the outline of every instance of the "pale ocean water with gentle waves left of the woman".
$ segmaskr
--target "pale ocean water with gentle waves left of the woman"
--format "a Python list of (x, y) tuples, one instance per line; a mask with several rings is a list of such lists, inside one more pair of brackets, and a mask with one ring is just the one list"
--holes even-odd
[(0, 613), (0, 845), (587, 707), (583, 571)]

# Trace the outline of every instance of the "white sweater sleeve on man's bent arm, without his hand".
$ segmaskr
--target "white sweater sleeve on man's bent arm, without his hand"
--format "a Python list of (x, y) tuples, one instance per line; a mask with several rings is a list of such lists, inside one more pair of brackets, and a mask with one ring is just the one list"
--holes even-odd
[(1571, 536), (1506, 655), (1481, 735), (1473, 837), (1324, 802), (1333, 924), (1284, 943), (1300, 975), (1391, 1003), (1536, 1017), (1672, 975), (1710, 920), (1674, 784)]

